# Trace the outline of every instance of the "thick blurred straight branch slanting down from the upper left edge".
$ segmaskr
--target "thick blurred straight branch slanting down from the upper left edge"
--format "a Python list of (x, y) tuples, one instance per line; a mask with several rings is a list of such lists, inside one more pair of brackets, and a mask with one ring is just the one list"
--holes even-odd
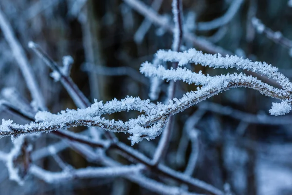
[(0, 28), (5, 39), (9, 43), (14, 58), (18, 62), (18, 66), (21, 70), (26, 85), (30, 90), (33, 100), (37, 102), (37, 106), (39, 109), (46, 110), (45, 100), (41, 95), (41, 90), (38, 87), (37, 80), (34, 76), (32, 68), (29, 65), (25, 52), (20, 43), (18, 42), (18, 40), (16, 39), (13, 33), (13, 29), (9, 21), (5, 18), (4, 13), (1, 11), (1, 9), (0, 9)]

